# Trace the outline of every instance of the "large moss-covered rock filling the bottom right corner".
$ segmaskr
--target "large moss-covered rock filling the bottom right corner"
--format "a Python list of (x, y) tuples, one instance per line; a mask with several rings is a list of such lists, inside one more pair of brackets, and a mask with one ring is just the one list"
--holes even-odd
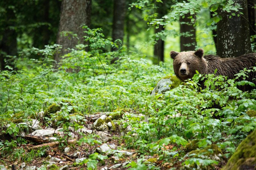
[(240, 170), (256, 168), (256, 130), (248, 135), (236, 148), (222, 170)]

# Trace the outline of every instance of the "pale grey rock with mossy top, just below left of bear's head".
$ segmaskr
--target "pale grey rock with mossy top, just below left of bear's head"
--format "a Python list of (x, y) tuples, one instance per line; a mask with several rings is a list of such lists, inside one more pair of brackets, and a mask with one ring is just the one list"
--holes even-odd
[(156, 87), (151, 91), (151, 96), (163, 94), (180, 85), (180, 80), (176, 76), (166, 76), (158, 81)]

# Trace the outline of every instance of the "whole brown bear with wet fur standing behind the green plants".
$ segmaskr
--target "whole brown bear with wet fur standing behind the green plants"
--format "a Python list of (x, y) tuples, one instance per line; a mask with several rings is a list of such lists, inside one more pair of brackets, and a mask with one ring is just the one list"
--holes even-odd
[[(171, 51), (170, 56), (173, 59), (173, 70), (175, 75), (181, 80), (185, 81), (192, 78), (196, 74), (196, 70), (201, 74), (214, 74), (217, 69), (216, 75), (227, 76), (228, 79), (235, 78), (240, 70), (244, 68), (252, 69), (256, 66), (256, 53), (241, 55), (236, 58), (220, 58), (216, 55), (204, 55), (203, 49), (187, 52)], [(256, 72), (250, 72), (247, 81), (256, 84)], [(240, 79), (242, 80), (242, 79)], [(255, 87), (246, 86), (240, 88), (241, 90), (251, 90)]]

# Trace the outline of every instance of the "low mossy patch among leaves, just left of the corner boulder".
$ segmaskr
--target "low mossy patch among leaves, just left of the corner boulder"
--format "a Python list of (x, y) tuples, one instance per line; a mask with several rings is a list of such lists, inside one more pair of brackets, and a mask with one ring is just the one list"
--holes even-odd
[(212, 145), (205, 147), (204, 149), (194, 150), (194, 151), (189, 152), (189, 154), (193, 154), (193, 153), (196, 155), (204, 155), (204, 156), (213, 158), (214, 155), (218, 156), (219, 154), (222, 154), (222, 151), (216, 144), (212, 144)]

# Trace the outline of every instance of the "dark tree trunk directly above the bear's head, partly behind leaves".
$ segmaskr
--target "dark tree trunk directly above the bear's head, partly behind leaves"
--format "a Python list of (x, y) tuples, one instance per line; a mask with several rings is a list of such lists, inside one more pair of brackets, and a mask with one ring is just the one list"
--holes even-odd
[(188, 33), (191, 36), (180, 36), (180, 51), (194, 51), (196, 48), (196, 28), (192, 25), (190, 14), (180, 18), (180, 33)]

